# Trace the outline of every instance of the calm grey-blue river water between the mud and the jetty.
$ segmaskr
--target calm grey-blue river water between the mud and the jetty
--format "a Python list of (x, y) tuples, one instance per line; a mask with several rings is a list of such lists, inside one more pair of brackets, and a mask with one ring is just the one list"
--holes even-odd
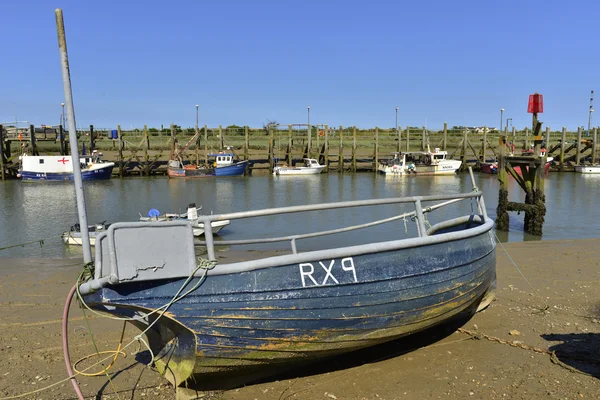
[[(495, 218), (498, 181), (496, 176), (476, 174), (477, 186), (484, 192), (486, 209)], [(166, 177), (112, 179), (86, 182), (85, 195), (88, 223), (99, 221), (137, 221), (150, 208), (161, 212), (185, 212), (189, 203), (202, 206), (204, 213), (228, 213), (289, 205), (314, 204), (384, 197), (453, 194), (472, 190), (468, 174), (445, 177), (385, 177), (381, 175), (321, 174), (305, 177), (257, 175), (218, 179), (177, 180)], [(510, 200), (522, 201), (524, 194), (510, 182)], [(0, 257), (71, 257), (81, 254), (80, 247), (66, 246), (60, 234), (77, 222), (74, 186), (69, 183), (0, 183), (0, 248), (43, 240), (40, 246), (24, 246), (0, 250)], [(510, 232), (497, 232), (502, 241), (553, 240), (600, 237), (600, 176), (574, 173), (551, 173), (546, 178), (547, 214), (544, 235), (535, 237), (523, 232), (523, 215), (511, 213)], [(221, 238), (241, 239), (272, 237), (291, 233), (308, 233), (349, 224), (360, 224), (386, 218), (398, 211), (412, 211), (412, 205), (350, 209), (324, 214), (297, 214), (269, 217), (263, 221), (236, 220), (220, 232)], [(453, 211), (440, 209), (429, 216), (431, 223), (451, 213), (464, 215), (471, 210), (464, 201)], [(450, 214), (449, 214), (450, 213)], [(439, 214), (439, 215), (436, 215)], [(408, 234), (410, 220), (385, 224), (365, 231), (354, 231), (339, 237), (311, 239), (306, 246), (320, 247), (358, 243), (365, 235), (373, 240), (391, 238), (395, 230)], [(396, 232), (396, 233), (397, 233)], [(394, 236), (396, 238), (397, 236)], [(331, 241), (334, 242), (331, 242)]]

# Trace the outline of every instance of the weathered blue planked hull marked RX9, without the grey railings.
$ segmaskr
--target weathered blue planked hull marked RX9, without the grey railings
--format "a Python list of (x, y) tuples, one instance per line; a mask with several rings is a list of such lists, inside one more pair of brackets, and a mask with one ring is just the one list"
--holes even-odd
[[(486, 230), (457, 241), (238, 273), (219, 274), (217, 266), (147, 336), (159, 370), (176, 385), (313, 362), (474, 313), (495, 288), (495, 258)], [(133, 316), (167, 303), (184, 281), (120, 283), (85, 299), (95, 309), (107, 305), (112, 315)]]

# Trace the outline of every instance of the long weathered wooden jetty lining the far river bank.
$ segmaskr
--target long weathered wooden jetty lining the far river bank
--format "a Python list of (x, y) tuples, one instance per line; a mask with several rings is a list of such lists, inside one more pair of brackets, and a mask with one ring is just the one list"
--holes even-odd
[[(500, 137), (515, 149), (529, 149), (535, 140), (529, 128), (511, 132), (492, 131), (486, 127), (474, 132), (466, 127), (449, 128), (445, 123), (442, 130), (433, 131), (424, 127), (398, 127), (384, 129), (358, 129), (352, 127), (330, 127), (316, 124), (308, 129), (307, 124), (270, 124), (261, 128), (248, 126), (210, 128), (148, 128), (122, 130), (97, 129), (90, 126), (78, 130), (86, 150), (104, 153), (104, 158), (115, 162), (117, 176), (150, 176), (166, 174), (167, 158), (174, 140), (187, 142), (198, 129), (198, 140), (185, 153), (190, 162), (204, 159), (208, 154), (230, 147), (240, 158), (250, 160), (249, 173), (272, 170), (278, 162), (293, 165), (303, 157), (318, 158), (326, 165), (327, 172), (375, 171), (380, 160), (396, 151), (423, 150), (428, 145), (448, 151), (450, 158), (462, 161), (462, 169), (472, 166), (477, 170), (481, 162), (500, 157)], [(41, 154), (69, 154), (68, 132), (62, 126), (41, 129), (30, 126), (24, 132), (10, 128), (2, 129), (0, 152), (2, 177), (16, 176), (18, 156), (22, 151)], [(114, 134), (113, 134), (114, 132)], [(593, 138), (583, 137), (583, 132), (552, 132), (546, 128), (545, 147), (548, 155), (555, 158), (556, 171), (572, 171), (579, 163), (591, 162), (597, 145), (597, 129)], [(310, 140), (309, 140), (310, 139)], [(17, 146), (15, 146), (15, 143)], [(16, 147), (16, 148), (15, 148)], [(82, 151), (83, 149), (80, 149)], [(597, 154), (597, 153), (596, 153)]]

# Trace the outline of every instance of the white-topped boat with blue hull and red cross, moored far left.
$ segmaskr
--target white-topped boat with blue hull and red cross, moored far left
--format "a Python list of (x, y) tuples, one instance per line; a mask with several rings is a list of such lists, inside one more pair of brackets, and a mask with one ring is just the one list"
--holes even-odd
[[(81, 156), (81, 178), (86, 181), (110, 179), (115, 166), (113, 162), (102, 161), (97, 151), (90, 156)], [(19, 157), (21, 168), (17, 177), (22, 181), (72, 181), (73, 158), (71, 156), (29, 156)]]

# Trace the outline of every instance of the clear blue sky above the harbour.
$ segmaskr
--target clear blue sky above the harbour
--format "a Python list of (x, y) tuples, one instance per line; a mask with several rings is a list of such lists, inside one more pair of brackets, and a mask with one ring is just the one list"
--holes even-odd
[[(586, 126), (597, 1), (2, 1), (0, 121), (57, 124), (64, 11), (78, 126)], [(600, 93), (599, 97), (600, 97)], [(598, 99), (600, 101), (600, 98)], [(600, 106), (600, 105), (599, 105)], [(600, 114), (600, 113), (598, 113)], [(600, 125), (600, 115), (597, 116)]]

